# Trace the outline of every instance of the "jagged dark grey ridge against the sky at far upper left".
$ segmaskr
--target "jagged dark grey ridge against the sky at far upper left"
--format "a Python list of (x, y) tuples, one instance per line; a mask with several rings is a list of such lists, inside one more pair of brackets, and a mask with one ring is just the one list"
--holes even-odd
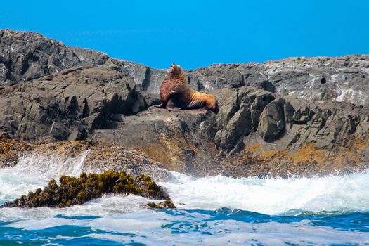
[(33, 32), (0, 30), (0, 86), (36, 79), (80, 65), (101, 65), (108, 56), (67, 47)]

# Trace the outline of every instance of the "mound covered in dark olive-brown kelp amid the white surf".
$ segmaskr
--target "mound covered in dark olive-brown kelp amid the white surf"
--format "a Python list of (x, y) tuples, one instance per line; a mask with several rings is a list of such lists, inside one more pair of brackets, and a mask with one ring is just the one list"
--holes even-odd
[[(60, 186), (53, 179), (48, 186), (28, 195), (22, 195), (13, 202), (6, 202), (3, 207), (70, 207), (82, 205), (84, 202), (100, 198), (105, 194), (134, 194), (144, 198), (169, 200), (165, 190), (150, 179), (140, 175), (133, 178), (124, 171), (105, 171), (103, 174), (89, 174), (82, 172), (79, 178), (74, 176), (60, 176)], [(170, 201), (168, 202), (168, 204)], [(172, 204), (172, 203), (171, 203)]]

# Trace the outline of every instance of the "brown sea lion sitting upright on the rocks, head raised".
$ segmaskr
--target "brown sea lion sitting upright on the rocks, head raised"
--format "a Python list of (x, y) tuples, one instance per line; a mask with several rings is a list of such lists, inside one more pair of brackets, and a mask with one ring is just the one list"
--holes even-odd
[(169, 111), (199, 109), (219, 112), (215, 96), (190, 89), (184, 71), (175, 63), (171, 64), (169, 72), (160, 86), (160, 98), (162, 104), (155, 105), (155, 107), (167, 108)]

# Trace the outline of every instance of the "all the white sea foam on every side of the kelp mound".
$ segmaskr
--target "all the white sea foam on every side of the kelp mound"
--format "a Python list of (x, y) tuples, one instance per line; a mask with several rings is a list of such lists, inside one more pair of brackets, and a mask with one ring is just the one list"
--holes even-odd
[[(63, 173), (79, 175), (86, 155), (88, 152), (63, 162), (56, 157), (22, 157), (15, 167), (0, 169), (0, 200), (18, 198), (29, 190), (45, 186), (49, 179), (58, 179)], [(173, 178), (160, 185), (167, 188), (177, 207), (184, 209), (229, 207), (263, 214), (284, 214), (292, 209), (313, 212), (369, 211), (369, 171), (312, 179), (233, 179), (226, 176), (195, 179), (176, 172), (171, 174)], [(66, 209), (40, 208), (34, 212), (2, 209), (0, 214), (7, 211), (8, 217), (12, 218), (17, 217), (17, 213), (19, 218), (32, 218), (31, 214), (44, 217), (60, 213), (105, 216), (140, 209), (145, 202), (148, 202), (145, 198), (113, 196)]]

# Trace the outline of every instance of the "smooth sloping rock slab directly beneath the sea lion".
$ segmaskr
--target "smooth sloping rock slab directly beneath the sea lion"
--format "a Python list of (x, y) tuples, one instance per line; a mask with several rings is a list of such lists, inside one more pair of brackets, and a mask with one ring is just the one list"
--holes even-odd
[(149, 158), (164, 164), (166, 169), (189, 171), (195, 168), (197, 161), (211, 162), (211, 158), (205, 158), (208, 154), (202, 153), (200, 138), (206, 141), (212, 137), (215, 116), (214, 112), (200, 110), (181, 110), (174, 114), (151, 107), (124, 117), (122, 122), (111, 122), (114, 127), (110, 129), (94, 130), (91, 139), (123, 143), (143, 151)]

